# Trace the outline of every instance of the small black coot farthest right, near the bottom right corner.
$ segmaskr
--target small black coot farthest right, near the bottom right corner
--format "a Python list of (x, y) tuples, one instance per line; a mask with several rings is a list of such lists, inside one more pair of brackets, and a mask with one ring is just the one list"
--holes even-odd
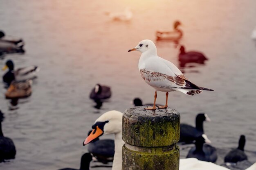
[(224, 161), (231, 162), (231, 163), (237, 163), (238, 161), (247, 160), (247, 156), (244, 153), (244, 147), (245, 147), (245, 135), (241, 135), (239, 142), (238, 142), (238, 148), (231, 150), (225, 156)]

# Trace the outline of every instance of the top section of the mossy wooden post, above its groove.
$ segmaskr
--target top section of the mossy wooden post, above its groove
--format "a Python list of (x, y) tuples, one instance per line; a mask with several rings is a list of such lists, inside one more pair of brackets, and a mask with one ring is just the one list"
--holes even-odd
[(180, 113), (173, 109), (155, 111), (139, 106), (123, 116), (124, 142), (143, 147), (171, 146), (180, 139)]

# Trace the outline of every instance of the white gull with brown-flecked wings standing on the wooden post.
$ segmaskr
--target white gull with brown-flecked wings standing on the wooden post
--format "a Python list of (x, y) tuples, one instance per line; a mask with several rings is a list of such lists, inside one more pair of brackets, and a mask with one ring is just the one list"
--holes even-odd
[(173, 63), (157, 56), (157, 47), (153, 41), (144, 39), (128, 52), (135, 50), (141, 52), (139, 59), (141, 77), (155, 89), (154, 105), (145, 109), (156, 109), (157, 91), (166, 92), (166, 103), (164, 106), (158, 106), (160, 109), (168, 107), (168, 92), (178, 91), (194, 96), (201, 93), (202, 90), (213, 91), (191, 83)]

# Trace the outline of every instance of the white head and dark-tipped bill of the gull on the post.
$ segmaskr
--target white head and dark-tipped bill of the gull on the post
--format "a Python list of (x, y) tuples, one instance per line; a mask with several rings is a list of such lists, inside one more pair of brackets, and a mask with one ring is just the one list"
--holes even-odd
[(140, 51), (141, 53), (143, 52), (151, 52), (153, 54), (157, 53), (157, 47), (155, 46), (154, 42), (151, 41), (150, 39), (144, 39), (140, 41), (135, 48), (130, 49), (128, 52), (135, 51), (135, 50)]

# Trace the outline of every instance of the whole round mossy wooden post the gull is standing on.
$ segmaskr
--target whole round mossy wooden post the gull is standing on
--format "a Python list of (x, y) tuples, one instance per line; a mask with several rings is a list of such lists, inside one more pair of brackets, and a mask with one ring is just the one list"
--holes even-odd
[(124, 112), (122, 170), (179, 170), (180, 113), (144, 107)]

